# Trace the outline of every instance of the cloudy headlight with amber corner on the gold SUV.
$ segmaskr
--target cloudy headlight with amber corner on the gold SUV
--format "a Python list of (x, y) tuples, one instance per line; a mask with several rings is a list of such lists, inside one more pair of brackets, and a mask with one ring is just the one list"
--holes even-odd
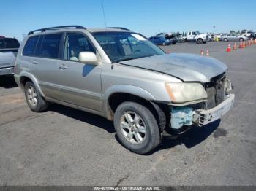
[(206, 91), (200, 83), (168, 82), (165, 84), (172, 102), (184, 103), (207, 98)]

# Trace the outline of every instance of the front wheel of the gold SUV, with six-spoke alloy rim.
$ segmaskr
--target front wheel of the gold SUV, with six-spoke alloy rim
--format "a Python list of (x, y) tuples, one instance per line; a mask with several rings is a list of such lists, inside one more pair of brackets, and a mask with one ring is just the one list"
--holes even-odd
[[(134, 122), (135, 118), (138, 122)], [(115, 112), (114, 125), (119, 141), (132, 152), (146, 154), (160, 143), (157, 120), (150, 110), (141, 104), (131, 101), (120, 104)]]

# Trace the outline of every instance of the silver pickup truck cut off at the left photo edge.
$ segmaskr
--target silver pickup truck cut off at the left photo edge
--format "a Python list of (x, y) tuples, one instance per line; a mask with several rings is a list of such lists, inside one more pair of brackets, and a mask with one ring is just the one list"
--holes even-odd
[(20, 43), (13, 37), (0, 36), (0, 76), (14, 74)]

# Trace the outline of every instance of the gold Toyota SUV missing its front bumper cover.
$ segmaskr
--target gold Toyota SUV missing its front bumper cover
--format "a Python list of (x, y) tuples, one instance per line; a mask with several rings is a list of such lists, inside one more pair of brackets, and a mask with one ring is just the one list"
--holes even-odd
[(181, 135), (233, 107), (226, 71), (214, 58), (166, 54), (132, 31), (58, 26), (23, 39), (15, 81), (32, 111), (54, 102), (99, 114), (124, 147), (145, 154), (165, 133)]

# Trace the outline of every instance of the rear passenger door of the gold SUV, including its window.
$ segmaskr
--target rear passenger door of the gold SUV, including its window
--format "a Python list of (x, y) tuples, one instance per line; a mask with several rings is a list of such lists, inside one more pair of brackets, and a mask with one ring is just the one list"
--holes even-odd
[(63, 33), (41, 35), (34, 57), (31, 57), (31, 73), (37, 78), (46, 97), (59, 98), (59, 56)]

